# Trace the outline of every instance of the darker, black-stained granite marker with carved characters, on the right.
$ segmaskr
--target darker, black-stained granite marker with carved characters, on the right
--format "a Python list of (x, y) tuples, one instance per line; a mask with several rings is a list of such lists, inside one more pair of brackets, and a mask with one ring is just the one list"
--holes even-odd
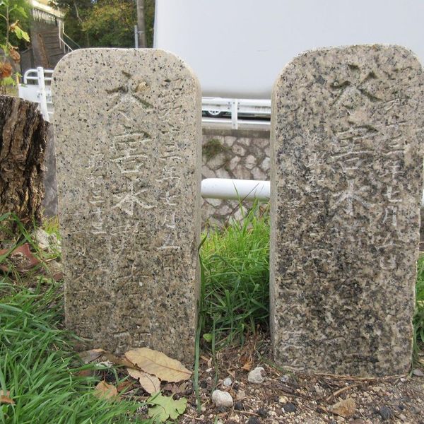
[(276, 81), (273, 352), (293, 369), (398, 375), (411, 364), (424, 78), (396, 46), (319, 49)]

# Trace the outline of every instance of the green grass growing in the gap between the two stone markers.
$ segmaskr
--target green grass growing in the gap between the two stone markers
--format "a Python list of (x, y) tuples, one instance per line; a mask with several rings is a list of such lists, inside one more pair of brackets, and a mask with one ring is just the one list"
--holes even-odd
[(259, 203), (241, 221), (212, 229), (201, 247), (201, 326), (213, 346), (242, 342), (268, 326), (269, 211)]

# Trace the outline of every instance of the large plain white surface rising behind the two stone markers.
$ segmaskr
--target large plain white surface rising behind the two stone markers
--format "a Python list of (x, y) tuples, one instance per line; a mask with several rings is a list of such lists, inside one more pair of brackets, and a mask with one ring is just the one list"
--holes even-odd
[(192, 66), (204, 96), (271, 98), (300, 52), (398, 44), (424, 60), (423, 0), (156, 0), (154, 46)]

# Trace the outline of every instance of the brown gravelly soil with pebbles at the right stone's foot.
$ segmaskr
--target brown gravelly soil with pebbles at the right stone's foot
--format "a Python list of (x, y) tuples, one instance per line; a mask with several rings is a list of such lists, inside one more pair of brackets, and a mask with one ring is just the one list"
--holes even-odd
[[(267, 358), (271, 358), (270, 341), (264, 336), (252, 338), (243, 348), (220, 351), (216, 364), (207, 355), (202, 355), (199, 372), (201, 411), (197, 411), (192, 388), (187, 387), (185, 392), (175, 395), (189, 399), (187, 411), (179, 418), (179, 423), (424, 424), (423, 376), (411, 373), (360, 379), (306, 375), (278, 369)], [(264, 367), (264, 382), (248, 382), (249, 370), (257, 366)], [(419, 369), (415, 372), (422, 374)], [(228, 384), (228, 378), (231, 384), (225, 386), (224, 379)], [(232, 408), (217, 408), (211, 401), (213, 389), (228, 391), (235, 401)], [(339, 401), (342, 401), (341, 408), (332, 409)], [(343, 404), (348, 407), (343, 408)]]

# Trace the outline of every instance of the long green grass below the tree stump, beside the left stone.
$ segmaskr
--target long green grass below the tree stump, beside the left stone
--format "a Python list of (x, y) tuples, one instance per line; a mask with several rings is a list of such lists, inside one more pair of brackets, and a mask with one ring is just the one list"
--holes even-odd
[[(17, 244), (28, 240), (21, 229)], [(6, 263), (7, 254), (0, 258)], [(136, 419), (143, 406), (138, 401), (93, 396), (105, 370), (96, 368), (97, 377), (78, 377), (95, 365), (81, 365), (70, 343), (73, 336), (63, 329), (61, 282), (38, 271), (19, 279), (18, 273), (0, 274), (0, 391), (10, 391), (14, 401), (0, 404), (0, 423), (152, 423)]]

